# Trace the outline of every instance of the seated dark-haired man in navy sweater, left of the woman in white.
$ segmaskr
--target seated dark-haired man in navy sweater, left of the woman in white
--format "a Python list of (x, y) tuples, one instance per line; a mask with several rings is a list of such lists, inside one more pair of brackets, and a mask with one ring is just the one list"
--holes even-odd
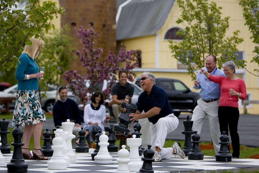
[(73, 134), (76, 136), (72, 141), (72, 147), (75, 148), (76, 141), (78, 140), (78, 132), (81, 130), (81, 111), (78, 108), (76, 102), (67, 98), (67, 88), (59, 88), (59, 100), (54, 103), (53, 106), (53, 120), (55, 126), (62, 128), (61, 123), (66, 122), (67, 119), (74, 121), (75, 126), (73, 128)]

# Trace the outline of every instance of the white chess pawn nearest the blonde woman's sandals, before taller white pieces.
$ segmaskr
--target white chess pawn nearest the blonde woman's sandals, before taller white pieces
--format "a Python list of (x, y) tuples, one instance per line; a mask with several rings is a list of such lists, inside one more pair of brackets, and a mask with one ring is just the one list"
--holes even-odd
[(53, 146), (51, 148), (54, 150), (51, 159), (47, 162), (48, 169), (62, 170), (67, 169), (67, 161), (62, 155), (62, 146), (63, 140), (60, 137), (60, 134), (56, 134), (56, 137), (52, 140)]

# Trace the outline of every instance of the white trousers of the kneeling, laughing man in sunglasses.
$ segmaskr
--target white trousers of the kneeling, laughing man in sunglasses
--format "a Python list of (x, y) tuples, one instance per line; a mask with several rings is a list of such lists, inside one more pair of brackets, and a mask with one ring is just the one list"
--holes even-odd
[(174, 114), (169, 114), (163, 118), (160, 118), (157, 123), (151, 124), (150, 129), (152, 131), (151, 145), (152, 149), (155, 147), (161, 149), (161, 158), (169, 159), (172, 156), (173, 148), (163, 148), (166, 136), (168, 133), (174, 131), (178, 127), (179, 120)]

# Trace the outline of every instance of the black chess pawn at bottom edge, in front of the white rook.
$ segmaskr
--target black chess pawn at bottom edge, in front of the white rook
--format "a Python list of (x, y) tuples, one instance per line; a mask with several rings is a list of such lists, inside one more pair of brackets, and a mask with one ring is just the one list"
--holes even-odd
[(140, 168), (139, 172), (154, 172), (153, 167), (152, 167), (152, 162), (155, 161), (153, 158), (155, 152), (154, 150), (151, 149), (151, 145), (147, 145), (148, 148), (146, 148), (143, 151), (144, 157), (141, 157), (141, 160), (143, 160), (143, 165)]

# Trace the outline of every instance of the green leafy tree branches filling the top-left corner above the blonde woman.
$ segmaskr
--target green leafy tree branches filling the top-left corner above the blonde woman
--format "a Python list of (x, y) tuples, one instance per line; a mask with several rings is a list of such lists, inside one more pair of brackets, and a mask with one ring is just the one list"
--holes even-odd
[(10, 70), (17, 64), (16, 52), (31, 36), (39, 37), (42, 31), (55, 29), (51, 23), (54, 16), (64, 13), (64, 9), (57, 8), (52, 1), (43, 2), (29, 0), (24, 10), (17, 9), (19, 0), (5, 0), (0, 2), (0, 65)]

